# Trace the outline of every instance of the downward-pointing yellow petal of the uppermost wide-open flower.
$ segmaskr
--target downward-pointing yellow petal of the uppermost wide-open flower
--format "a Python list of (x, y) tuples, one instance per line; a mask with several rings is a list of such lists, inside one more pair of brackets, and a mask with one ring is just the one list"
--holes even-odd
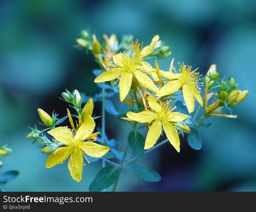
[(122, 102), (130, 91), (132, 82), (132, 73), (125, 72), (119, 80), (120, 101)]

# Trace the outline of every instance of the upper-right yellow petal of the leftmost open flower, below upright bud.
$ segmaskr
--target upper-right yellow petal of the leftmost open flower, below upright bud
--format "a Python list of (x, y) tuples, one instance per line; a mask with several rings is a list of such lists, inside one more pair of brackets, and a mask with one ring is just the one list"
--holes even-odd
[(95, 122), (89, 115), (86, 116), (84, 122), (77, 130), (74, 140), (83, 141), (90, 136), (95, 128)]

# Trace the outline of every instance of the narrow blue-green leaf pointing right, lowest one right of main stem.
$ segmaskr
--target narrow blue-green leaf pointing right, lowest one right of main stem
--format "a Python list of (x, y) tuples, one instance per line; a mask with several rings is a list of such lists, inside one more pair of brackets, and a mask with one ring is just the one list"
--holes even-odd
[(130, 163), (128, 164), (128, 167), (133, 171), (133, 173), (148, 182), (158, 182), (161, 180), (161, 176), (152, 169), (147, 169), (141, 166), (138, 166), (137, 164)]

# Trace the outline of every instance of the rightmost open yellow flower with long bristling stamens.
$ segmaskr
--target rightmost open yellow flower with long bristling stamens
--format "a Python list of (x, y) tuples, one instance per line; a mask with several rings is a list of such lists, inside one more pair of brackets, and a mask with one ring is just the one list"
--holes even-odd
[(166, 85), (164, 85), (159, 92), (157, 93), (157, 96), (166, 96), (175, 93), (180, 88), (182, 88), (182, 94), (186, 103), (186, 106), (188, 108), (189, 113), (192, 113), (195, 108), (194, 98), (198, 101), (198, 103), (202, 106), (203, 100), (200, 95), (200, 88), (198, 86), (202, 86), (199, 84), (202, 84), (202, 82), (199, 82), (200, 75), (198, 72), (191, 71), (191, 66), (186, 66), (179, 63), (179, 73), (175, 73), (175, 80), (172, 80), (170, 82), (166, 82)]

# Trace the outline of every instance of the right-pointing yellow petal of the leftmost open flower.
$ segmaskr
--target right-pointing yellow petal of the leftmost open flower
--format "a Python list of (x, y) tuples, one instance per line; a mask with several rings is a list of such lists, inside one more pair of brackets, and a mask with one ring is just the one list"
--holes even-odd
[(99, 145), (93, 141), (82, 142), (80, 149), (91, 157), (102, 157), (109, 151), (108, 146)]

